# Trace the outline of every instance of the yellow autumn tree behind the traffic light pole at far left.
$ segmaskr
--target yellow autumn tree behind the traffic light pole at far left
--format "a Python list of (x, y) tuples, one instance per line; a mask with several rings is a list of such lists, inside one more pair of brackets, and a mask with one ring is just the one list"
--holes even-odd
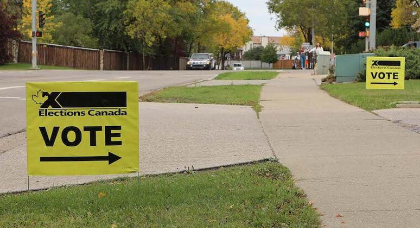
[[(52, 1), (51, 0), (37, 0), (37, 12), (36, 12), (36, 30), (42, 31), (42, 37), (38, 37), (37, 41), (42, 43), (54, 43), (53, 32), (56, 28), (61, 26), (60, 23), (54, 22), (54, 15), (51, 14)], [(30, 39), (32, 37), (32, 1), (23, 0), (22, 10), (22, 21), (18, 25), (18, 30), (22, 33), (23, 37)], [(45, 24), (43, 28), (38, 27), (38, 12), (42, 11), (45, 13)]]

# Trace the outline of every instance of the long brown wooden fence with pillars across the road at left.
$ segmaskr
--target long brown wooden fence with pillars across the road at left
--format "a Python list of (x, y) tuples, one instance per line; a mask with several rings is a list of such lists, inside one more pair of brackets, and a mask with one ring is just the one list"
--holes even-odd
[[(10, 41), (12, 43), (12, 41)], [(32, 43), (18, 42), (17, 62), (32, 62)], [(9, 49), (10, 46), (8, 45)], [(10, 50), (9, 50), (10, 51)], [(138, 53), (38, 43), (37, 64), (86, 70), (145, 70)], [(149, 70), (182, 70), (185, 61), (173, 56), (145, 56)], [(185, 62), (186, 65), (186, 62)]]

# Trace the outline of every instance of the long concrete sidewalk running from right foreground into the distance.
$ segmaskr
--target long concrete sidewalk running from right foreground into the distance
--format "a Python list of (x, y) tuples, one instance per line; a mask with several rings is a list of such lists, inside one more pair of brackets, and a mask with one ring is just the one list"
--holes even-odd
[(263, 88), (260, 113), (280, 162), (327, 227), (418, 227), (420, 135), (330, 97), (309, 71)]

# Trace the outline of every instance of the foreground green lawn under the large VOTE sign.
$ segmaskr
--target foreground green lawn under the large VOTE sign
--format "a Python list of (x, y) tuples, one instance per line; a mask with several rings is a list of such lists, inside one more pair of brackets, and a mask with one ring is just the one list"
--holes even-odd
[(320, 227), (277, 162), (0, 195), (0, 227)]

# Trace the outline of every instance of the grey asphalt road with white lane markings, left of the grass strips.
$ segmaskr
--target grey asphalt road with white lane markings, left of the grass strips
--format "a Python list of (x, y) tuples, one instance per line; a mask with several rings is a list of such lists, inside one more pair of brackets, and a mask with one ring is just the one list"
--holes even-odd
[(0, 71), (0, 138), (25, 131), (25, 82), (138, 81), (140, 93), (213, 78), (221, 71)]

